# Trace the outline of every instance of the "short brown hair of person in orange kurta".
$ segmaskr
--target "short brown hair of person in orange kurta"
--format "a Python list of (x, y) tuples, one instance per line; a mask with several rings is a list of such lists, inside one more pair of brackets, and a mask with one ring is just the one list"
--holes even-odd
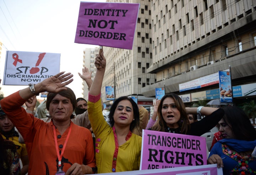
[[(49, 92), (47, 94), (47, 101), (46, 101), (46, 108), (49, 111), (50, 108), (50, 102), (53, 100), (53, 98), (57, 95), (61, 95), (63, 97), (69, 98), (72, 106), (73, 106), (73, 111), (75, 110), (76, 107), (76, 97), (75, 97), (75, 93), (73, 92), (72, 89), (70, 89), (69, 87), (66, 87), (66, 90), (60, 91), (58, 93), (53, 93), (53, 92)], [(72, 114), (70, 116), (70, 119), (74, 118), (74, 114)]]

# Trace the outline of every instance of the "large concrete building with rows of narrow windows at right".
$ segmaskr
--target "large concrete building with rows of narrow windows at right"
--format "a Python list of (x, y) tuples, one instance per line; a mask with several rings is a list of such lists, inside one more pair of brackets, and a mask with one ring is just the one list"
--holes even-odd
[(217, 89), (180, 92), (179, 84), (229, 66), (233, 86), (256, 82), (256, 1), (151, 0), (150, 7), (153, 60), (146, 72), (156, 83), (143, 95), (154, 96), (159, 86), (178, 95)]

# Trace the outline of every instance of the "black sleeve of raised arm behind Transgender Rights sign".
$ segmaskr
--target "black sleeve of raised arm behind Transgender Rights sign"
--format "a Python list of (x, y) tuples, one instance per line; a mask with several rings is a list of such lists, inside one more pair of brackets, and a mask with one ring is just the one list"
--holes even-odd
[(214, 126), (216, 126), (220, 119), (224, 115), (224, 110), (222, 108), (217, 109), (212, 114), (204, 117), (203, 119), (192, 123), (190, 130), (187, 132), (187, 135), (201, 136), (204, 133), (208, 132)]

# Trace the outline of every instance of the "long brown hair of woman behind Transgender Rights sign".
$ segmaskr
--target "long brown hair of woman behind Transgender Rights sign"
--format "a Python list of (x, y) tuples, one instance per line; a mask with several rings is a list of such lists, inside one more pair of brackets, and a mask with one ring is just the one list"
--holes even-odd
[(185, 108), (185, 105), (184, 105), (182, 99), (174, 93), (165, 94), (161, 98), (160, 103), (158, 105), (158, 120), (156, 121), (156, 123), (152, 127), (152, 130), (154, 130), (154, 131), (163, 131), (164, 132), (165, 128), (167, 128), (166, 122), (165, 122), (165, 120), (162, 116), (163, 101), (167, 97), (170, 97), (170, 98), (174, 99), (175, 105), (176, 105), (178, 111), (180, 112), (180, 120), (178, 121), (178, 125), (181, 127), (181, 134), (186, 134), (187, 131), (190, 129), (190, 123), (188, 121), (186, 108)]

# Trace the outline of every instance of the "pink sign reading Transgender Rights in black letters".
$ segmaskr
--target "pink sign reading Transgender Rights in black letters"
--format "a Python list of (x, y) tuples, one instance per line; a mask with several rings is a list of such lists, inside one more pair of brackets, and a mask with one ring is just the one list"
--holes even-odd
[(140, 170), (207, 165), (206, 139), (143, 130)]

